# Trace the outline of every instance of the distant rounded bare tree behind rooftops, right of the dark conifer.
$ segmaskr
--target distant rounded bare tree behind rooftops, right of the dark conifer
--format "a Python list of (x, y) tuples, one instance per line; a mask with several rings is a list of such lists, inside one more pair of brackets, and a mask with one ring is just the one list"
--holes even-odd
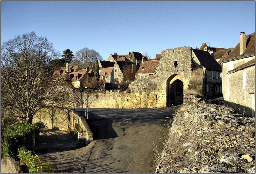
[(90, 67), (94, 70), (95, 61), (102, 60), (102, 56), (95, 50), (90, 50), (87, 47), (75, 53), (75, 59), (73, 60), (73, 65), (79, 65), (81, 69), (86, 69)]

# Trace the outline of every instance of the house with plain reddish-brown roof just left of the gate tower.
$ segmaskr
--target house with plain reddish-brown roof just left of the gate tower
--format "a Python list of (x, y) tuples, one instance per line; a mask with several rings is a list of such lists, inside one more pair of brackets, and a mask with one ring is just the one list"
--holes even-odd
[(153, 77), (159, 60), (142, 61), (136, 72), (136, 79)]

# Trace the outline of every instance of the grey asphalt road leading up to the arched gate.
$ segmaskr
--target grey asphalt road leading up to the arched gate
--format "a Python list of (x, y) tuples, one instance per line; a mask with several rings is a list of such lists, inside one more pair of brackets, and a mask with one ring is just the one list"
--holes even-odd
[[(161, 153), (164, 132), (178, 108), (89, 108), (87, 122), (93, 132), (93, 142), (74, 149), (72, 143), (66, 141), (66, 146), (70, 143), (69, 148), (52, 151), (48, 145), (44, 155), (52, 159), (59, 173), (155, 173), (154, 144)], [(87, 108), (76, 108), (82, 115), (85, 110)], [(45, 135), (52, 135), (54, 139), (54, 133), (60, 136), (60, 132)]]

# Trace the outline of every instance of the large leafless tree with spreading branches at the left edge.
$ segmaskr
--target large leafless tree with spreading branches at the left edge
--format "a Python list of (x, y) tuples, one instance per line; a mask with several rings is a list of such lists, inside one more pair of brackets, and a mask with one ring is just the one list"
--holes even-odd
[(46, 103), (59, 106), (65, 101), (71, 93), (70, 85), (63, 77), (52, 77), (49, 64), (59, 55), (47, 38), (38, 37), (35, 32), (4, 42), (1, 48), (1, 94), (4, 96), (1, 108), (31, 123), (34, 114)]

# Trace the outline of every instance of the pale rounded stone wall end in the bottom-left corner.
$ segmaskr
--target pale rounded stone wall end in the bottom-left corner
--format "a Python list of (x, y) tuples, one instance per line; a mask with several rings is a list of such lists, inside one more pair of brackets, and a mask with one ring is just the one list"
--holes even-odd
[(20, 162), (4, 156), (1, 158), (1, 173), (23, 173)]

